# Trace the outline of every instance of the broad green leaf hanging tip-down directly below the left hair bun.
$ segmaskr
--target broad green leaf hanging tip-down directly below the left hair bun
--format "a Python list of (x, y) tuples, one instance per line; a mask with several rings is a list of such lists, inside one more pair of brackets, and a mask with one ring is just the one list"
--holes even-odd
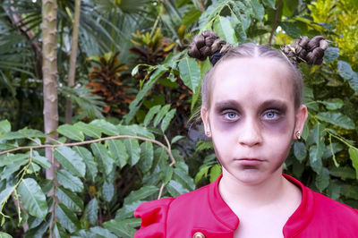
[(184, 84), (195, 93), (200, 82), (199, 64), (193, 58), (184, 57), (178, 65)]

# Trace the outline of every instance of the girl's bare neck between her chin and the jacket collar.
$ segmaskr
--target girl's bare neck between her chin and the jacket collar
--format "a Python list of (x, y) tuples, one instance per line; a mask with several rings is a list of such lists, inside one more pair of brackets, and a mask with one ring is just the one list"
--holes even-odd
[(289, 183), (282, 175), (282, 168), (257, 184), (242, 183), (223, 168), (223, 177), (218, 187), (221, 197), (230, 207), (261, 208), (286, 197), (285, 194), (292, 190), (291, 186), (294, 184)]

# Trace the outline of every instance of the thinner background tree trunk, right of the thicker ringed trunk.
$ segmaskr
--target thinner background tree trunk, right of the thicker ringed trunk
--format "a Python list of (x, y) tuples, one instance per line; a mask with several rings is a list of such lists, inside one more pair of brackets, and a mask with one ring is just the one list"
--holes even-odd
[[(74, 77), (76, 75), (76, 57), (77, 57), (77, 46), (78, 46), (78, 34), (80, 28), (80, 9), (81, 0), (75, 0), (74, 7), (74, 22), (72, 30), (72, 47), (70, 57), (70, 72), (68, 73), (68, 86), (74, 86)], [(72, 123), (72, 101), (70, 98), (66, 98), (66, 112), (65, 112), (65, 123)]]

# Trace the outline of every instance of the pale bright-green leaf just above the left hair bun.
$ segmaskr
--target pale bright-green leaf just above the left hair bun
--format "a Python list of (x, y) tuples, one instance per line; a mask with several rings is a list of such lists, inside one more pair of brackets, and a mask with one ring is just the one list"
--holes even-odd
[(217, 20), (214, 22), (214, 31), (217, 33), (217, 36), (226, 40), (226, 42), (232, 45), (237, 44), (237, 38), (234, 33), (233, 26), (226, 17), (219, 16), (217, 18)]

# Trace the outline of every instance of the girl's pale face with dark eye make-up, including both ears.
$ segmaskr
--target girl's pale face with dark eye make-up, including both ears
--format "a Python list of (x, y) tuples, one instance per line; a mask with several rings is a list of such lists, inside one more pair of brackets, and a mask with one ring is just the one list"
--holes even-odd
[(258, 184), (282, 173), (294, 132), (303, 131), (306, 106), (294, 108), (285, 64), (270, 58), (229, 59), (217, 65), (211, 105), (201, 109), (223, 173)]

